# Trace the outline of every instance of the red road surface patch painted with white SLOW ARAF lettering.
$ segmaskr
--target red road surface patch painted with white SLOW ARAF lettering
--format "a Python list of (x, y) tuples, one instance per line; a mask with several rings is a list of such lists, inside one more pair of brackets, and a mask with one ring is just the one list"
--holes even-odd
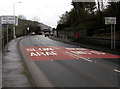
[(23, 47), (27, 57), (33, 61), (108, 58), (117, 59), (118, 55), (85, 48), (67, 47)]

